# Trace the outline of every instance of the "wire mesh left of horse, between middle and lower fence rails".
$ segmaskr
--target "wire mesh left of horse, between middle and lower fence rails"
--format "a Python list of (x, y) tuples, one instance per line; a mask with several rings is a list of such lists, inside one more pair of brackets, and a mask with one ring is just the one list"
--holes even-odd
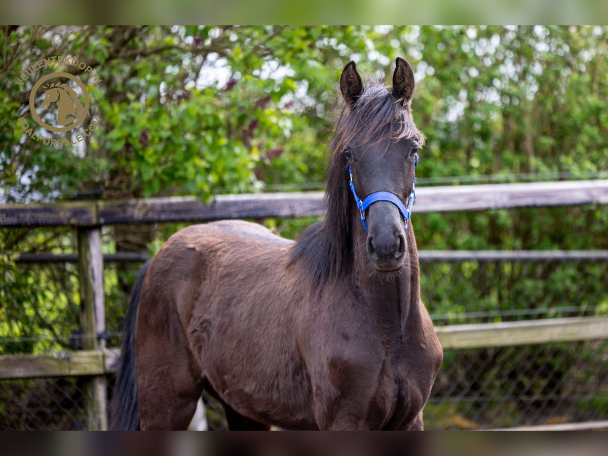
[[(104, 268), (108, 347), (119, 347), (120, 332), (137, 263)], [(0, 354), (80, 350), (78, 268), (74, 263), (0, 264)], [(15, 280), (18, 275), (19, 280)], [(23, 283), (27, 282), (24, 287)]]

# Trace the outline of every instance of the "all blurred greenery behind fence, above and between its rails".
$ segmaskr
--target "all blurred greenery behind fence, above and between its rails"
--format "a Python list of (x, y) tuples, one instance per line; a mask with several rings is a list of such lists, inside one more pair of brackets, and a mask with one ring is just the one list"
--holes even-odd
[[(342, 67), (354, 60), (390, 85), (398, 56), (415, 69), (413, 113), (427, 136), (420, 192), (605, 178), (607, 51), (606, 26), (2, 26), (0, 203), (320, 190)], [(19, 74), (50, 55), (77, 57), (102, 78), (88, 86), (89, 116), (102, 128), (75, 147), (32, 141), (16, 121), (29, 116), (32, 82), (46, 73), (26, 86)], [(258, 220), (289, 238), (314, 221)], [(414, 209), (412, 221), (419, 249), (608, 249), (601, 206)], [(183, 226), (103, 227), (103, 249), (153, 255)], [(75, 233), (0, 229), (0, 251), (72, 253)], [(105, 265), (110, 334), (122, 327), (137, 266)], [(536, 318), (526, 312), (608, 306), (605, 263), (421, 264), (421, 286), (440, 324), (473, 321), (459, 317), (471, 311), (493, 321), (505, 311)], [(0, 303), (0, 354), (77, 347), (75, 264), (0, 256)], [(521, 359), (510, 357), (514, 371)]]

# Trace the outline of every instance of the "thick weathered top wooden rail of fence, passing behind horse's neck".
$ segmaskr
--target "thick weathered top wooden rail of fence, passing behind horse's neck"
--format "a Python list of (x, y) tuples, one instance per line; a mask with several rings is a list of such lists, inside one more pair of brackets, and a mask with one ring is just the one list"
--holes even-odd
[[(608, 179), (523, 184), (447, 185), (416, 189), (415, 212), (608, 204)], [(0, 227), (304, 217), (325, 213), (323, 192), (193, 196), (0, 206)]]

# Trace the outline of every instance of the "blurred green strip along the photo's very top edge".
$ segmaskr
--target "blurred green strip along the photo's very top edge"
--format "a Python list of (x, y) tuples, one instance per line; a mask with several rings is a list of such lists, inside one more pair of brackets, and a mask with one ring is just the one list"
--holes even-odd
[(78, 0), (4, 2), (0, 17), (15, 24), (596, 24), (606, 22), (603, 0), (393, 0), (285, 2), (280, 0), (134, 0), (103, 4)]

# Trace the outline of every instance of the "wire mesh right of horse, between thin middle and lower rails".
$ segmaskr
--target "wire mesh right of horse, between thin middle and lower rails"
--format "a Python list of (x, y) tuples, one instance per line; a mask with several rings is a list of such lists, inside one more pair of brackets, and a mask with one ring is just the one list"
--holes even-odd
[(559, 252), (501, 253), (446, 261), (449, 252), (421, 252), (421, 295), (436, 326), (608, 315), (606, 252), (574, 260)]

